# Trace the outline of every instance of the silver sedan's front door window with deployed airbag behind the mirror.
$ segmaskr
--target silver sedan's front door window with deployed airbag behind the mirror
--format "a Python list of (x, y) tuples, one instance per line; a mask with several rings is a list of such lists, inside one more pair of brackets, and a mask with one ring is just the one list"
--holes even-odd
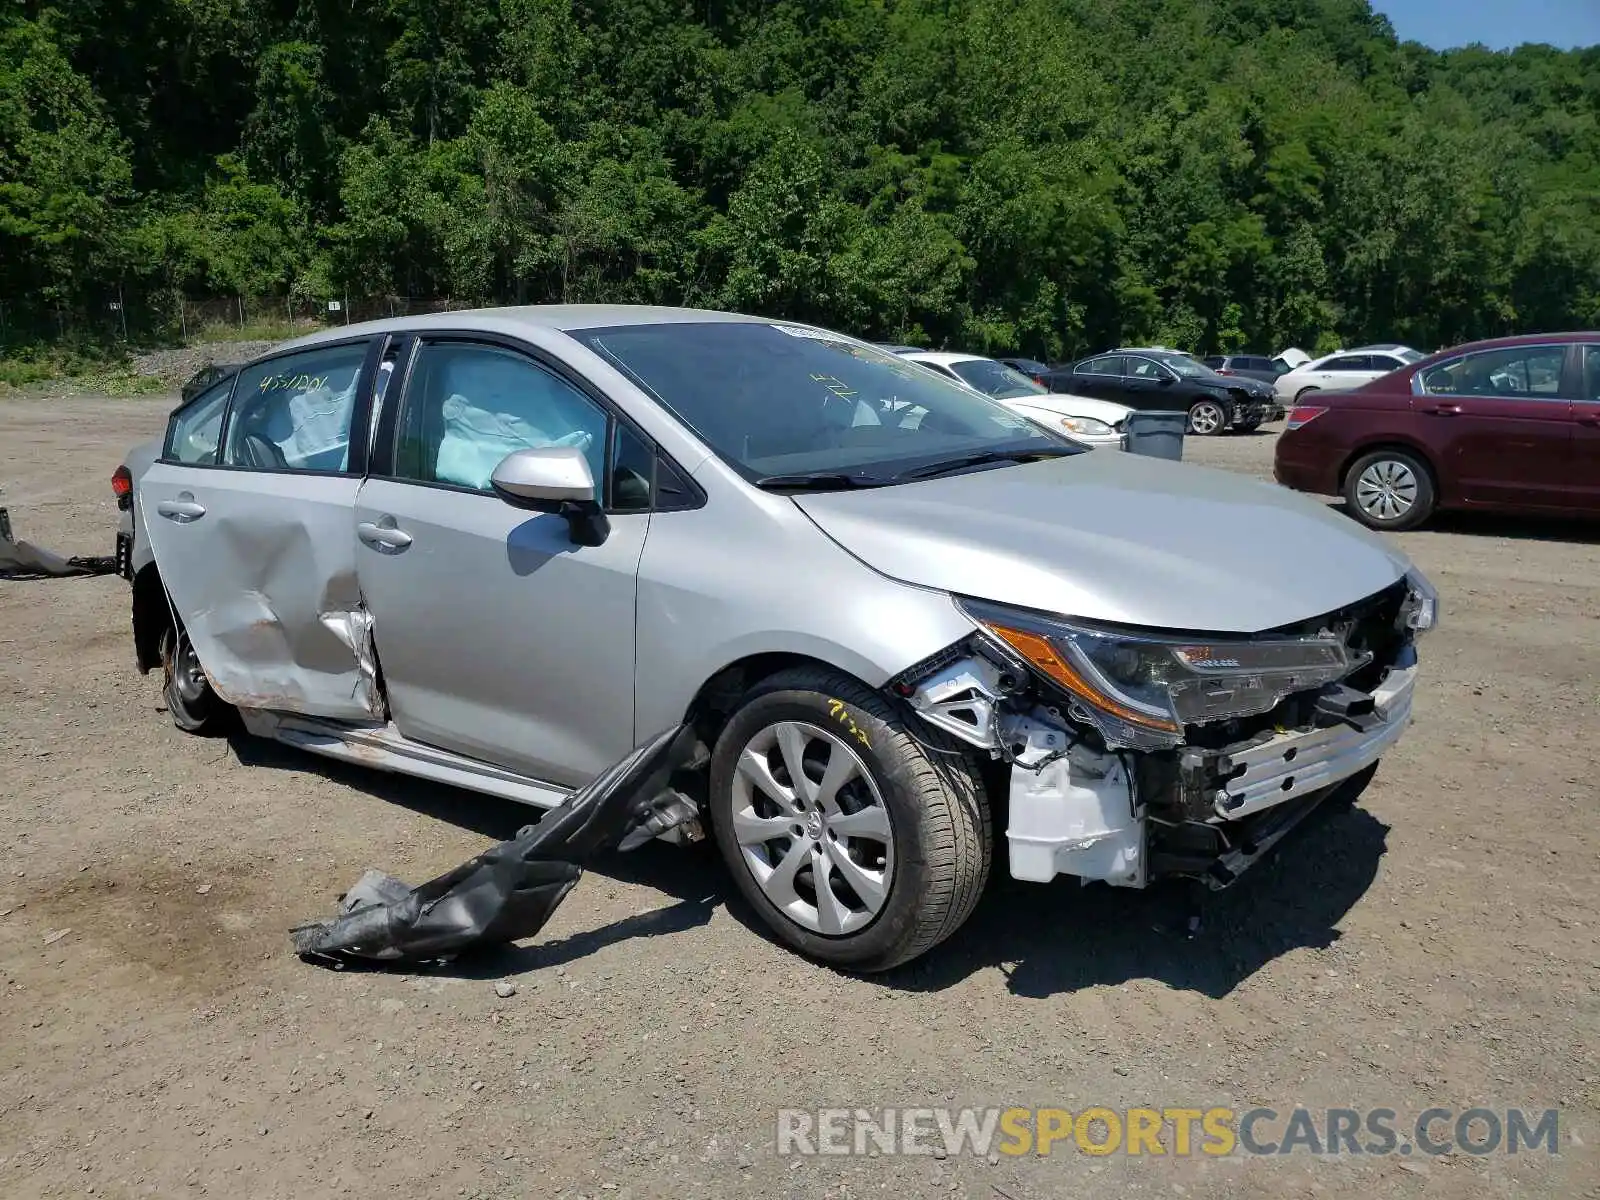
[(589, 397), (514, 350), (434, 342), (406, 384), (395, 475), (490, 491), (507, 454), (578, 446), (603, 486), (606, 413)]

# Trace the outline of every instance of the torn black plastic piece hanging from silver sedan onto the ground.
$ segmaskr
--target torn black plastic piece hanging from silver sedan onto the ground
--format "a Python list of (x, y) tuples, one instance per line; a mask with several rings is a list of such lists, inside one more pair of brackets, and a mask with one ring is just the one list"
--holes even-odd
[(291, 931), (294, 952), (330, 965), (402, 965), (531, 938), (594, 856), (635, 850), (670, 830), (699, 834), (694, 802), (669, 787), (696, 749), (688, 726), (659, 734), (510, 842), (419, 888), (368, 870), (336, 917)]

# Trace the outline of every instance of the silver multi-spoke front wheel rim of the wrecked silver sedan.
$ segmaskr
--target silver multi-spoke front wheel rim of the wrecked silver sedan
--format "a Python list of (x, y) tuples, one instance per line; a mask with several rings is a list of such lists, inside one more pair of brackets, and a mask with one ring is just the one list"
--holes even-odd
[(733, 834), (757, 886), (813, 933), (856, 933), (888, 902), (894, 837), (861, 755), (806, 722), (768, 725), (739, 752)]

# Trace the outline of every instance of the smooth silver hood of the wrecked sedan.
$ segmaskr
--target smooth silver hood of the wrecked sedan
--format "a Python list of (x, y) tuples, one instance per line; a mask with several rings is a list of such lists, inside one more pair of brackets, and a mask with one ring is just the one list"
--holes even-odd
[(1256, 634), (1378, 592), (1403, 554), (1326, 506), (1134, 454), (795, 496), (883, 574), (997, 603), (1158, 629)]

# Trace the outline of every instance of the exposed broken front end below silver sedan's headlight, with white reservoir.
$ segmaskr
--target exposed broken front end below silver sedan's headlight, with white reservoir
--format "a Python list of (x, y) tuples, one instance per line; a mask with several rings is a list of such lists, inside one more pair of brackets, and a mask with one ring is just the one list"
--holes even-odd
[(930, 725), (1010, 765), (1013, 878), (1125, 888), (1224, 888), (1325, 800), (1358, 794), (1410, 723), (1418, 675), (1408, 645), (1365, 670), (1370, 691), (1339, 683), (1283, 706), (1293, 725), (1154, 754), (1107, 747), (1000, 658), (974, 642), (893, 686)]

